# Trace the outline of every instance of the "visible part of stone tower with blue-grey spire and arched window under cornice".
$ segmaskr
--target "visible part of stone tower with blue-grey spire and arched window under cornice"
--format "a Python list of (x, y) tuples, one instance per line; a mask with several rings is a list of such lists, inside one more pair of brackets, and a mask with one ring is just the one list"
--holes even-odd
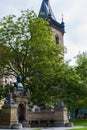
[(43, 0), (42, 5), (39, 11), (38, 17), (43, 18), (43, 19), (49, 19), (49, 24), (52, 28), (52, 31), (54, 32), (55, 36), (55, 41), (56, 44), (63, 44), (63, 35), (64, 35), (64, 22), (62, 18), (62, 22), (59, 23), (57, 22), (54, 13), (52, 11), (52, 8), (50, 6), (50, 1), (49, 0)]

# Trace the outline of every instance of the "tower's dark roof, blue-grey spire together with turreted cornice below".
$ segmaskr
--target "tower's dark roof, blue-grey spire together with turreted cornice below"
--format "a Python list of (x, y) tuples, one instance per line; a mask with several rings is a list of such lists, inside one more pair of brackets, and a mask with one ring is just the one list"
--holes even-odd
[(39, 15), (38, 17), (40, 18), (44, 18), (44, 19), (49, 19), (50, 20), (50, 26), (61, 31), (63, 34), (65, 32), (64, 30), (64, 22), (62, 19), (62, 22), (59, 23), (56, 21), (56, 18), (52, 12), (51, 6), (50, 6), (50, 2), (49, 0), (43, 0), (42, 1), (42, 5), (39, 11)]

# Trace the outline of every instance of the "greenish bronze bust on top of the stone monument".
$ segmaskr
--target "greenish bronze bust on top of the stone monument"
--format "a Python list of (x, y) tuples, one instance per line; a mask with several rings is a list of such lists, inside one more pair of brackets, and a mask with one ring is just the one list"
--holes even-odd
[(22, 76), (17, 76), (17, 81), (14, 83), (14, 87), (17, 89), (17, 91), (20, 91), (20, 95), (24, 94), (24, 87), (22, 84)]

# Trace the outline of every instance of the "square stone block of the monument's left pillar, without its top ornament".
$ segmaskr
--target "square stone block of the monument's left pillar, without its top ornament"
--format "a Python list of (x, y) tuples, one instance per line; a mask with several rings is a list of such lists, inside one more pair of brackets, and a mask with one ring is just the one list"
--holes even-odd
[(0, 127), (10, 128), (12, 124), (18, 124), (17, 105), (3, 105), (0, 112)]

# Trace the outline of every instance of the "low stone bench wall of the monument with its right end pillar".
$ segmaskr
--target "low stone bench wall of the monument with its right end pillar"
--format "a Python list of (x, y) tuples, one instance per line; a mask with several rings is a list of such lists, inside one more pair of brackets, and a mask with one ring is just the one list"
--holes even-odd
[(28, 119), (31, 127), (64, 127), (66, 124), (69, 125), (67, 108), (61, 104), (54, 109), (29, 111)]

